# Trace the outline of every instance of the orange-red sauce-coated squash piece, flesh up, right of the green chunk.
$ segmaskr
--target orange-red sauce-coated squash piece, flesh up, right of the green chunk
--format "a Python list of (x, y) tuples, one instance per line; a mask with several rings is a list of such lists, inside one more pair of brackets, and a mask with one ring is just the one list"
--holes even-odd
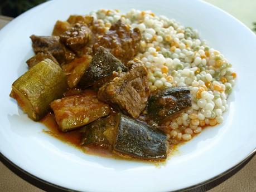
[(89, 124), (110, 112), (109, 106), (98, 101), (96, 92), (92, 90), (55, 100), (51, 109), (63, 132)]

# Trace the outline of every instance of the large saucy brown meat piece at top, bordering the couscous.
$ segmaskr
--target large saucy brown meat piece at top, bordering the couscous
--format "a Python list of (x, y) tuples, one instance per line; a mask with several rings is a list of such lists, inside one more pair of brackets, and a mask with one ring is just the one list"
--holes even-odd
[(139, 29), (131, 29), (119, 20), (103, 36), (98, 37), (94, 49), (103, 46), (123, 63), (127, 63), (137, 55), (140, 41), (141, 32)]

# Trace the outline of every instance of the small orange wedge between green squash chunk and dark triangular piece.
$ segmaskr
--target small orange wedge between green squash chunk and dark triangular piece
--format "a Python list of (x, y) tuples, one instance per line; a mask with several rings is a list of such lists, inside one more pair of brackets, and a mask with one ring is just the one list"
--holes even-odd
[(91, 58), (90, 55), (84, 55), (80, 58), (75, 58), (71, 63), (62, 65), (62, 69), (67, 75), (67, 84), (70, 88), (73, 88), (78, 84), (89, 67)]

